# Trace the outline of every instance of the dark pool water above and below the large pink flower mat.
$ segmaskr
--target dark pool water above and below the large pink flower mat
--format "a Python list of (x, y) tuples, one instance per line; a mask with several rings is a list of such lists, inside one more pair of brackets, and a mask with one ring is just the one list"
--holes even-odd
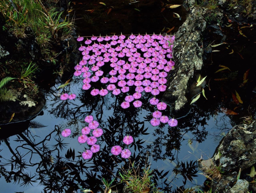
[[(72, 12), (76, 11), (77, 31), (81, 36), (121, 32), (159, 33), (165, 26), (175, 26), (176, 29), (185, 19), (182, 8), (175, 10), (182, 20), (173, 18), (173, 11), (169, 9), (160, 13), (163, 8), (160, 1), (140, 1), (139, 4), (109, 0), (104, 3), (107, 6), (95, 1), (77, 1), (76, 5), (71, 3), (72, 9), (75, 9)], [(110, 6), (114, 8), (107, 14), (106, 10)], [(84, 12), (87, 13), (84, 10), (91, 9), (94, 11), (84, 16)], [(216, 68), (218, 66), (211, 71), (216, 71)], [(253, 78), (250, 79), (253, 82)], [(175, 117), (178, 120), (176, 127), (153, 127), (149, 121), (155, 109), (148, 103), (150, 95), (144, 94), (140, 99), (143, 102), (141, 108), (122, 109), (120, 104), (125, 96), (108, 94), (105, 97), (93, 97), (89, 91), (81, 90), (81, 80), (73, 77), (70, 85), (58, 90), (63, 82), (56, 79), (55, 86), (46, 95), (47, 104), (40, 115), (30, 121), (1, 126), (1, 136), (4, 136), (0, 146), (1, 192), (79, 192), (78, 185), (98, 192), (101, 190), (99, 185), (102, 185), (102, 178), (110, 182), (118, 176), (121, 167), (125, 170), (129, 166), (128, 160), (110, 153), (113, 145), (125, 148), (122, 139), (126, 134), (134, 137), (134, 143), (129, 147), (132, 152), (131, 162), (144, 167), (148, 159), (154, 170), (153, 181), (164, 192), (175, 191), (183, 185), (184, 188), (203, 185), (205, 178), (200, 172), (197, 173), (196, 160), (201, 155), (203, 159), (211, 157), (222, 136), (241, 122), (241, 116), (245, 115), (241, 113), (233, 116), (221, 111), (221, 108), (230, 108), (228, 105), (234, 104), (230, 92), (225, 95), (219, 91), (220, 86), (213, 84), (212, 92), (206, 89), (208, 100), (200, 98), (196, 105), (191, 106), (187, 116)], [(228, 88), (233, 89), (230, 86)], [(242, 91), (238, 91), (242, 93), (241, 98), (246, 104), (239, 106), (240, 111), (245, 112), (254, 98), (252, 88), (253, 85), (250, 85), (250, 96), (246, 95), (246, 98)], [(61, 101), (61, 93), (74, 93), (77, 98), (74, 101)], [(89, 114), (100, 123), (104, 134), (97, 142), (101, 150), (94, 153), (92, 159), (84, 160), (81, 153), (88, 147), (79, 144), (77, 137), (86, 125), (85, 116)], [(172, 117), (169, 107), (163, 114)], [(64, 128), (71, 129), (70, 137), (61, 136)], [(121, 192), (122, 184), (117, 184), (116, 188)]]

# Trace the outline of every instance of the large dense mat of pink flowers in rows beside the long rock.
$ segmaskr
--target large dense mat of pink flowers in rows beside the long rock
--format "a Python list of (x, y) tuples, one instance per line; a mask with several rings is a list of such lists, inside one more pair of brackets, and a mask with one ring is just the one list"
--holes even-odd
[[(84, 85), (82, 88), (88, 90), (91, 88), (90, 82), (97, 82), (99, 77), (103, 76), (104, 72), (100, 70), (100, 67), (109, 62), (113, 69), (107, 74), (108, 77), (103, 76), (100, 82), (103, 84), (110, 82), (111, 84), (107, 86), (107, 89), (93, 88), (90, 94), (105, 96), (112, 91), (112, 94), (119, 95), (121, 91), (128, 92), (134, 85), (136, 86), (135, 93), (125, 97), (125, 101), (121, 104), (122, 108), (130, 107), (130, 102), (133, 102), (136, 108), (141, 107), (142, 102), (138, 99), (145, 91), (154, 95), (149, 101), (151, 105), (157, 105), (158, 110), (165, 110), (167, 105), (164, 102), (159, 102), (156, 95), (160, 94), (160, 91), (166, 91), (167, 72), (175, 65), (175, 62), (172, 61), (172, 43), (175, 36), (162, 36), (161, 34), (135, 36), (131, 34), (126, 40), (125, 38), (125, 35), (121, 33), (120, 36), (113, 35), (105, 38), (93, 36), (91, 40), (87, 39), (84, 42), (87, 46), (81, 45), (79, 48), (82, 51), (83, 59), (75, 66), (74, 75), (80, 76), (83, 73)], [(82, 41), (84, 38), (79, 37), (77, 40)], [(97, 41), (97, 43), (92, 44), (92, 41)], [(102, 41), (106, 41), (106, 43), (102, 43)], [(108, 43), (108, 41), (111, 42)], [(125, 63), (125, 59), (123, 59), (125, 56), (128, 57), (129, 63)], [(87, 64), (90, 68), (85, 66)], [(93, 72), (94, 75), (91, 77)], [(116, 82), (121, 89), (113, 84)], [(162, 116), (159, 111), (154, 112), (153, 117), (150, 121), (153, 126), (160, 125), (160, 122), (168, 123), (172, 127), (177, 125), (176, 119)]]

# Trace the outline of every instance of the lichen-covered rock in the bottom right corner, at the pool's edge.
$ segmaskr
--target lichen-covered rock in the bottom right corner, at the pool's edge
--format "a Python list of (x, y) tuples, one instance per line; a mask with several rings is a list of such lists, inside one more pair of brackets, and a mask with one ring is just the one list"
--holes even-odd
[[(245, 179), (236, 181), (239, 170), (251, 168), (256, 163), (256, 121), (252, 125), (235, 126), (216, 149), (210, 160), (221, 168), (222, 179), (213, 181), (213, 192), (221, 193), (247, 193), (249, 182)], [(202, 165), (208, 163), (203, 161)], [(232, 175), (230, 175), (232, 174)], [(251, 187), (253, 189), (253, 187)]]

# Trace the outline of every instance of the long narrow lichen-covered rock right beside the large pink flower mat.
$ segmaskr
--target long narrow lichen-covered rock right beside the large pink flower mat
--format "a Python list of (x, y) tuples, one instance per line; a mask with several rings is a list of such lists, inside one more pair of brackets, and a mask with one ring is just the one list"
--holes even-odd
[[(186, 1), (186, 7), (192, 1)], [(179, 31), (175, 35), (173, 46), (173, 58), (176, 62), (175, 69), (169, 74), (169, 84), (163, 96), (172, 109), (177, 113), (184, 108), (190, 99), (187, 92), (191, 85), (191, 79), (196, 70), (201, 70), (203, 65), (203, 32), (206, 28), (204, 14), (207, 9), (202, 7), (190, 7), (189, 15)]]

